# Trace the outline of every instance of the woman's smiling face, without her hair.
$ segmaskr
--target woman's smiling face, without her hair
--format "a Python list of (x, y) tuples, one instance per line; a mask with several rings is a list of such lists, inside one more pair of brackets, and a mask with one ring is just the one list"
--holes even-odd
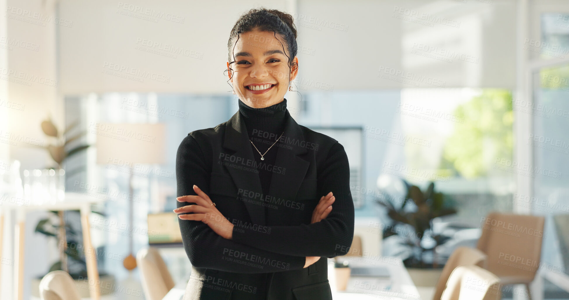
[(298, 72), (298, 58), (293, 60), (297, 65), (289, 68), (286, 42), (277, 37), (273, 32), (256, 29), (244, 32), (233, 49), (235, 62), (231, 66), (227, 62), (233, 90), (250, 107), (265, 108), (281, 102), (288, 91), (289, 77), (294, 80)]

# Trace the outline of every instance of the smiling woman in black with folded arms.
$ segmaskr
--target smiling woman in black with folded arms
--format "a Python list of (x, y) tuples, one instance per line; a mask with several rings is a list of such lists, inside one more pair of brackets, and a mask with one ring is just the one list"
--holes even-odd
[(178, 147), (175, 212), (192, 264), (184, 299), (332, 299), (327, 258), (353, 239), (348, 157), (286, 108), (296, 47), (290, 15), (242, 15), (226, 63), (239, 111)]

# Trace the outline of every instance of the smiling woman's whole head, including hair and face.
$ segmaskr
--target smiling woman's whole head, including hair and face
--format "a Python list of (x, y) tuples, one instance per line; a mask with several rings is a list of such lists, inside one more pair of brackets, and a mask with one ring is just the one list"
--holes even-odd
[[(278, 18), (271, 19), (269, 14)], [(250, 21), (241, 18), (231, 31), (228, 76), (241, 101), (263, 108), (282, 101), (296, 78), (296, 29), (292, 17), (277, 10), (259, 15), (258, 22)]]

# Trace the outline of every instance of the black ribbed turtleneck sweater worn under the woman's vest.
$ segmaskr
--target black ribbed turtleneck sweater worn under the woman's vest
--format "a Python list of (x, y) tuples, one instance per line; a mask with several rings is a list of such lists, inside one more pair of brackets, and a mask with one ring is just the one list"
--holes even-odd
[[(261, 153), (265, 153), (265, 151), (267, 151), (267, 149), (269, 149), (269, 147), (273, 145), (273, 143), (277, 141), (277, 138), (283, 133), (286, 104), (286, 99), (283, 99), (283, 101), (266, 108), (251, 108), (241, 100), (238, 100), (239, 112), (245, 122), (249, 138)], [(253, 157), (257, 160), (258, 165), (261, 165), (259, 163), (261, 162), (261, 155), (257, 150), (255, 150), (254, 146), (251, 145)], [(277, 158), (277, 151), (279, 150), (281, 149), (278, 145), (271, 147), (271, 149), (264, 155), (265, 159), (263, 160), (263, 163), (274, 165)], [(326, 155), (325, 165), (328, 167), (326, 170), (318, 171), (318, 178), (323, 182), (324, 186), (337, 187), (335, 192), (337, 199), (345, 199), (350, 195), (350, 190), (349, 186), (345, 184), (346, 182), (349, 182), (349, 165), (344, 147), (340, 145), (340, 143), (335, 143)], [(196, 195), (192, 188), (193, 184), (196, 184), (196, 186), (200, 187), (205, 194), (208, 194), (212, 172), (212, 160), (213, 154), (208, 151), (202, 151), (199, 143), (197, 143), (191, 134), (188, 134), (183, 139), (176, 154), (176, 182), (178, 196)], [(267, 195), (269, 194), (269, 186), (273, 172), (266, 171), (265, 169), (259, 169), (258, 174), (263, 192)], [(320, 198), (315, 199), (315, 201), (318, 201), (319, 199)], [(182, 207), (183, 205), (187, 204), (178, 202), (177, 207)], [(332, 209), (339, 212), (347, 212), (348, 215), (353, 215), (353, 205), (350, 205), (347, 201), (336, 200)], [(267, 215), (267, 210), (267, 207), (265, 207), (265, 216)], [(270, 220), (267, 219), (267, 222), (270, 222)], [(195, 223), (193, 223), (193, 221), (180, 222), (180, 232), (182, 233), (186, 253), (189, 253), (188, 257), (191, 257), (191, 253), (200, 251), (204, 247), (208, 248), (211, 252), (216, 252), (218, 250), (216, 248), (220, 247), (222, 244), (226, 246), (230, 243), (232, 249), (250, 253), (251, 255), (257, 255), (259, 257), (266, 257), (270, 260), (287, 262), (290, 264), (289, 270), (294, 270), (302, 269), (306, 263), (306, 256), (309, 256), (301, 256), (302, 254), (300, 254), (307, 252), (307, 250), (304, 249), (306, 247), (303, 247), (303, 243), (290, 243), (290, 241), (297, 240), (300, 234), (298, 232), (298, 228), (295, 227), (290, 227), (290, 229), (287, 229), (286, 226), (275, 227), (271, 231), (270, 239), (267, 235), (257, 235), (255, 232), (246, 231), (246, 233), (236, 233), (236, 231), (234, 231), (233, 240), (224, 239), (224, 243), (221, 243), (220, 239), (223, 238), (213, 232), (208, 225), (201, 223), (197, 225), (192, 224)], [(353, 223), (349, 225), (352, 224)], [(211, 231), (211, 233), (204, 233), (204, 230)], [(307, 233), (304, 233), (306, 236)], [(329, 234), (339, 235), (340, 232), (333, 232)], [(206, 241), (203, 241), (202, 239), (203, 243), (198, 245), (196, 244), (196, 240), (199, 239), (199, 236), (208, 236), (208, 238)], [(318, 237), (307, 236), (306, 238), (314, 240)], [(331, 236), (330, 238), (333, 239), (335, 237)], [(270, 245), (267, 246), (267, 244)], [(273, 252), (274, 250), (262, 249), (275, 247), (277, 247), (278, 253)], [(327, 246), (323, 242), (323, 245), (317, 248), (326, 249)], [(283, 271), (283, 269), (278, 266), (265, 266), (265, 268), (259, 270), (255, 266), (229, 264), (227, 261), (218, 260), (215, 257), (211, 257), (211, 259), (207, 256), (201, 257), (203, 260), (207, 260), (201, 262), (201, 264), (207, 265), (207, 268), (211, 269), (236, 273), (269, 273)]]

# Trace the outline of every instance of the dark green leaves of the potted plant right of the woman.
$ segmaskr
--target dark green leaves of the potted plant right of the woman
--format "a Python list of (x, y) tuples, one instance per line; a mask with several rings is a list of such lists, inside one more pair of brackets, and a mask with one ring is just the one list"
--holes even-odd
[[(405, 196), (397, 198), (381, 193), (381, 198), (376, 199), (380, 206), (387, 209), (391, 221), (384, 228), (383, 238), (397, 239), (395, 243), (402, 249), (399, 254), (403, 256), (401, 258), (408, 269), (437, 268), (434, 249), (446, 243), (450, 237), (434, 234), (432, 221), (436, 217), (452, 215), (456, 209), (443, 193), (435, 192), (434, 182), (430, 182), (424, 191), (404, 179), (402, 182), (407, 190)], [(432, 253), (430, 263), (424, 257), (427, 252)]]

